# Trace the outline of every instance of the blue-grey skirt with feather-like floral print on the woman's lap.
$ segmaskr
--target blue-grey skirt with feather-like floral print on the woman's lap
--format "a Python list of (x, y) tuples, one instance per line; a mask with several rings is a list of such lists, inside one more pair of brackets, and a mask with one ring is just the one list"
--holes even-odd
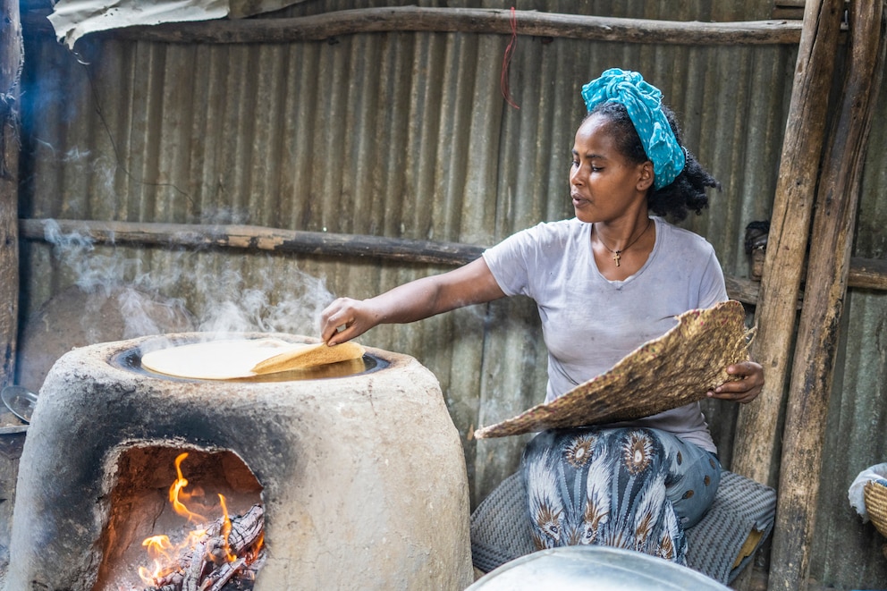
[(658, 429), (553, 429), (522, 460), (539, 550), (596, 544), (686, 565), (684, 530), (714, 501), (714, 453)]

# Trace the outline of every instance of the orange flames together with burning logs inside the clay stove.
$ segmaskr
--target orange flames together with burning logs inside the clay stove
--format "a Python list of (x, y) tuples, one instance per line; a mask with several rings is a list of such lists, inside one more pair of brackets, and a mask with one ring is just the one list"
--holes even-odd
[[(169, 488), (169, 502), (175, 512), (186, 519), (186, 524), (195, 528), (183, 533), (178, 542), (166, 534), (149, 536), (142, 542), (154, 562), (151, 567), (139, 567), (139, 578), (147, 586), (142, 588), (145, 591), (251, 589), (265, 560), (262, 505), (255, 504), (243, 515), (232, 517), (224, 494), (217, 495), (217, 505), (199, 502), (198, 499), (204, 497), (201, 488), (185, 490), (189, 483), (182, 473), (182, 462), (187, 457), (188, 452), (182, 452), (175, 459), (176, 478)], [(221, 511), (222, 515), (210, 523), (203, 515), (209, 511)]]

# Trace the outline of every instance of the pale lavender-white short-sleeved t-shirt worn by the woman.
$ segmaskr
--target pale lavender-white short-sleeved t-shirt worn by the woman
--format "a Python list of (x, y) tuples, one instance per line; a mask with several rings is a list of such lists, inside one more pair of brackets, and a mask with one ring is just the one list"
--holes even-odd
[[(662, 336), (683, 312), (727, 300), (712, 245), (660, 217), (653, 219), (653, 252), (624, 281), (609, 281), (600, 273), (591, 248), (592, 226), (576, 218), (537, 224), (484, 252), (506, 295), (536, 301), (548, 348), (546, 402)], [(715, 452), (698, 402), (630, 425), (661, 428)]]

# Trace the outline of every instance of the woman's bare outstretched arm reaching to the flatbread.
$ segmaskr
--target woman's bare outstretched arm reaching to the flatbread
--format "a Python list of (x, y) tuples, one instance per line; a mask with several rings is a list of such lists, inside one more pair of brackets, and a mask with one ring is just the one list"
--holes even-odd
[(404, 283), (375, 298), (339, 298), (323, 311), (320, 334), (332, 346), (376, 325), (414, 322), (504, 295), (481, 257), (448, 273)]

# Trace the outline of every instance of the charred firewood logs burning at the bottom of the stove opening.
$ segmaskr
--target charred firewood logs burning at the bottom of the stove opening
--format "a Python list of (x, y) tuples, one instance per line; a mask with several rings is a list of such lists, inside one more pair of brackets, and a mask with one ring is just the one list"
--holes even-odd
[(216, 519), (145, 591), (221, 591), (235, 577), (253, 578), (264, 558), (264, 515), (257, 504), (241, 516)]

